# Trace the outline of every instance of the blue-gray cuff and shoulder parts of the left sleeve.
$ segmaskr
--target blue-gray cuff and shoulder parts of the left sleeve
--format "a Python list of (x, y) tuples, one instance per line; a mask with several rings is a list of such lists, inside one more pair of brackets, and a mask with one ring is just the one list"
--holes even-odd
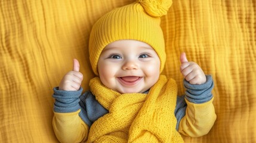
[(82, 94), (82, 88), (78, 91), (60, 91), (58, 87), (54, 88), (53, 91), (53, 98), (55, 98), (53, 110), (57, 113), (72, 113), (81, 109), (79, 116), (88, 126), (91, 126), (95, 120), (108, 113), (95, 100), (94, 95), (90, 91)]

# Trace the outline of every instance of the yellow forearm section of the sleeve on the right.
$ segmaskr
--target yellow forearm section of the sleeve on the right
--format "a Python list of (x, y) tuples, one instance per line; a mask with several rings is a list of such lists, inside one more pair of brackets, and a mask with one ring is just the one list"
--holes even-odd
[(186, 115), (180, 121), (178, 132), (191, 137), (206, 135), (217, 117), (212, 101), (213, 98), (208, 102), (195, 104), (186, 100)]

